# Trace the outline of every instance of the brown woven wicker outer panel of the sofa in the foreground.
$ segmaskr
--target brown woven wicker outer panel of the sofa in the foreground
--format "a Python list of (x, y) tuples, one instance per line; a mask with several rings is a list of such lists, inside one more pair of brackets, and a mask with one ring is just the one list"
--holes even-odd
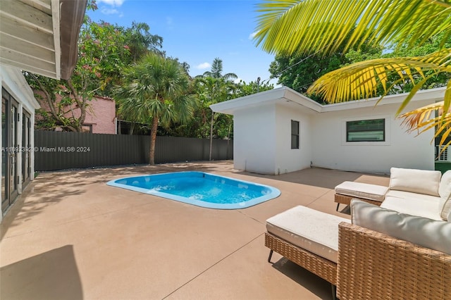
[(349, 223), (338, 228), (341, 300), (450, 299), (450, 255)]

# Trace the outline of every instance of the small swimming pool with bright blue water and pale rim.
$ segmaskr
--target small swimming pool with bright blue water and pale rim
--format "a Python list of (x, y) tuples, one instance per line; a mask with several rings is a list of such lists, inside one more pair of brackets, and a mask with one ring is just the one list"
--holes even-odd
[(218, 209), (246, 208), (280, 195), (280, 190), (268, 185), (194, 171), (124, 177), (106, 184)]

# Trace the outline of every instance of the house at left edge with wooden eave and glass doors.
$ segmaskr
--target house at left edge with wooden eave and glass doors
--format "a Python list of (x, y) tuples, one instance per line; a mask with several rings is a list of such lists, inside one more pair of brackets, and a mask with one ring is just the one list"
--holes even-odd
[(1, 213), (33, 180), (35, 109), (22, 71), (68, 79), (87, 0), (14, 0), (0, 5)]

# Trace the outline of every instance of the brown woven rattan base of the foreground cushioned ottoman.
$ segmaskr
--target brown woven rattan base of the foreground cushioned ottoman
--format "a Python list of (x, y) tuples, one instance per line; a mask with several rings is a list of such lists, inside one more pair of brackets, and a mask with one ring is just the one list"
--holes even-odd
[(331, 284), (337, 285), (337, 264), (333, 261), (299, 248), (268, 232), (265, 233), (265, 246)]

